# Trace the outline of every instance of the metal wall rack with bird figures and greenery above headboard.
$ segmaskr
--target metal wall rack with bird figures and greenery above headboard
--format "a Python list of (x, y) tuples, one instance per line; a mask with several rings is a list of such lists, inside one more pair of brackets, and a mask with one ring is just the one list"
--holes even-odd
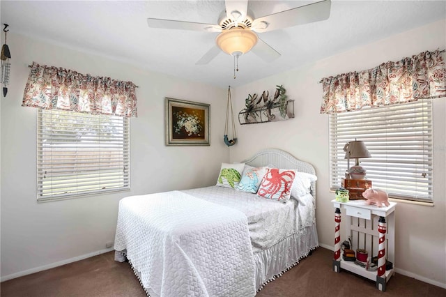
[(268, 91), (263, 91), (259, 97), (248, 94), (245, 99), (245, 109), (238, 113), (240, 125), (250, 123), (268, 123), (272, 121), (284, 121), (294, 117), (294, 100), (288, 100), (286, 89), (276, 86), (274, 97), (269, 96)]

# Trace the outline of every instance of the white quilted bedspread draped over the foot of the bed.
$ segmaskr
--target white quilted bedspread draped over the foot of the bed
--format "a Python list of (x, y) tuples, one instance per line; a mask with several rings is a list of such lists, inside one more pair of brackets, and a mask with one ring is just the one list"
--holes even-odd
[(184, 192), (119, 202), (115, 250), (155, 296), (254, 296), (247, 217)]

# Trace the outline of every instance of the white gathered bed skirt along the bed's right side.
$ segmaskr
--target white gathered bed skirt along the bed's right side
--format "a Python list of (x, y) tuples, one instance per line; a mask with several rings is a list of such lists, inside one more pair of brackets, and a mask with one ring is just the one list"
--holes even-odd
[(267, 250), (254, 254), (256, 290), (282, 275), (319, 245), (316, 224), (301, 229)]

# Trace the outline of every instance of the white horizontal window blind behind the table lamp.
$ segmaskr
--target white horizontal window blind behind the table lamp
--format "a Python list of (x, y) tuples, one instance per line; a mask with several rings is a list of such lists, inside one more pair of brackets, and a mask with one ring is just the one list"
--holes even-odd
[(373, 188), (394, 198), (433, 201), (431, 100), (331, 114), (332, 189), (339, 188), (347, 170), (344, 145), (355, 139), (364, 141), (371, 154), (360, 165)]

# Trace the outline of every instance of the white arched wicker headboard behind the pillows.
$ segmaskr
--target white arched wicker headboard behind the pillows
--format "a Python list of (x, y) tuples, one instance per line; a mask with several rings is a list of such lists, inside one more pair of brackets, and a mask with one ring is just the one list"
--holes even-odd
[[(298, 160), (294, 158), (293, 155), (286, 153), (286, 151), (281, 151), (277, 148), (267, 148), (259, 151), (251, 158), (244, 160), (243, 162), (253, 167), (274, 165), (274, 167), (280, 169), (295, 169), (298, 172), (306, 172), (316, 175), (316, 170), (314, 170), (313, 165)], [(316, 199), (315, 181), (312, 182), (312, 195)]]

